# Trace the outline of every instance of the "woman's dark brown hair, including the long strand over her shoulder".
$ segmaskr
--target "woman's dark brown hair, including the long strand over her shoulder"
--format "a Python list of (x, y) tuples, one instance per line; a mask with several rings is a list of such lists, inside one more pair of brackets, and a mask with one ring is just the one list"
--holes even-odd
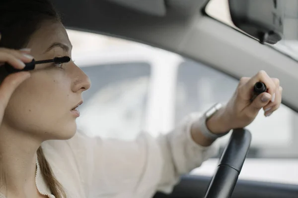
[[(60, 22), (49, 0), (0, 0), (0, 48), (21, 49), (44, 21)], [(0, 82), (5, 75), (0, 67)], [(3, 72), (2, 72), (3, 71)], [(54, 177), (41, 147), (37, 150), (42, 175), (56, 198), (66, 198), (62, 185)], [(5, 188), (5, 174), (0, 169), (0, 188)]]

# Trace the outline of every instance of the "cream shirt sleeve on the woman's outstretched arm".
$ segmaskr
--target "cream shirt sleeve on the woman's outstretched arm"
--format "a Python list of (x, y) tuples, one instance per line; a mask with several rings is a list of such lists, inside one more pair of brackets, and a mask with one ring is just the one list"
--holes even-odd
[(199, 167), (218, 150), (215, 145), (202, 147), (192, 140), (190, 126), (199, 116), (189, 115), (165, 135), (153, 138), (141, 133), (135, 141), (90, 138), (78, 132), (68, 145), (88, 195), (170, 193), (182, 174)]

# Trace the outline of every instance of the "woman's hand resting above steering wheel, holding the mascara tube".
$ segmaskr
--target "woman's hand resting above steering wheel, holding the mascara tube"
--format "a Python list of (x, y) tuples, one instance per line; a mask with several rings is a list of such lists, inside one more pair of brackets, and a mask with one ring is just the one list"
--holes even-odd
[[(253, 87), (257, 82), (263, 82), (267, 87), (267, 92), (260, 94), (251, 101)], [(259, 71), (252, 78), (241, 78), (232, 98), (216, 115), (217, 126), (210, 123), (210, 130), (219, 134), (230, 129), (246, 127), (255, 119), (262, 108), (265, 111), (265, 116), (270, 116), (281, 104), (282, 91), (279, 79), (270, 78), (265, 71)]]

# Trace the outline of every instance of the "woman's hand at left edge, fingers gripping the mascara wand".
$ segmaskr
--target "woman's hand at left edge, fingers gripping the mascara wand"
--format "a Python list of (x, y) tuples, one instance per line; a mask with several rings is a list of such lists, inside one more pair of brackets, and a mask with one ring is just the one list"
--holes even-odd
[[(1, 40), (1, 35), (0, 35)], [(0, 66), (5, 62), (17, 69), (23, 69), (24, 63), (31, 62), (33, 57), (29, 55), (30, 50), (14, 50), (0, 48)], [(30, 72), (22, 71), (9, 74), (0, 84), (0, 123), (3, 118), (4, 110), (14, 90), (27, 78), (30, 77)]]

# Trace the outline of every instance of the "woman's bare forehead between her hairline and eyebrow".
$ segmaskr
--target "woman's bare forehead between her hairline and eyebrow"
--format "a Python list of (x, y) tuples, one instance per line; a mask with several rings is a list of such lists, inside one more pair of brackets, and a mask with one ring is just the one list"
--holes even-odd
[(32, 54), (41, 54), (53, 43), (62, 43), (72, 49), (71, 42), (63, 24), (60, 22), (53, 23), (47, 21), (32, 34), (27, 48), (31, 48)]

